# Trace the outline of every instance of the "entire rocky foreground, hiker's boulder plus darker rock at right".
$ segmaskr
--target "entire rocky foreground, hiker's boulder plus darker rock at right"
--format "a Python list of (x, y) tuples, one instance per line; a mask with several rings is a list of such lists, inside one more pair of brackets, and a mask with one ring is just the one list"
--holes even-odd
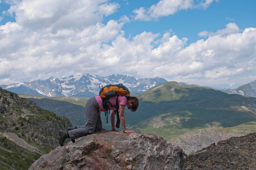
[(188, 157), (155, 134), (104, 131), (57, 147), (29, 169), (256, 169), (256, 133)]

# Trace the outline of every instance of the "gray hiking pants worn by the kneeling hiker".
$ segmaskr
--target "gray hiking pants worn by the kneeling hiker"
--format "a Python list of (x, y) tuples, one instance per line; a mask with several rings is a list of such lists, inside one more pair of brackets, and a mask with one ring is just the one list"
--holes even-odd
[(99, 104), (97, 103), (95, 97), (90, 98), (86, 103), (85, 118), (85, 126), (78, 126), (77, 129), (68, 131), (68, 135), (70, 136), (71, 140), (95, 133), (97, 131), (102, 131), (102, 122), (99, 115)]

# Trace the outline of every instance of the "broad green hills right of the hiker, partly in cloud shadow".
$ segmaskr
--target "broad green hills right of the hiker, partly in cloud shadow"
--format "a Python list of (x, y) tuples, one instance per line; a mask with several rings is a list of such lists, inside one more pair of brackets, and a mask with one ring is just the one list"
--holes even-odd
[[(136, 114), (146, 114), (147, 119), (131, 129), (155, 133), (168, 140), (195, 129), (230, 128), (256, 121), (256, 98), (211, 88), (168, 82), (137, 97), (143, 110)], [(141, 120), (134, 114), (137, 117)]]

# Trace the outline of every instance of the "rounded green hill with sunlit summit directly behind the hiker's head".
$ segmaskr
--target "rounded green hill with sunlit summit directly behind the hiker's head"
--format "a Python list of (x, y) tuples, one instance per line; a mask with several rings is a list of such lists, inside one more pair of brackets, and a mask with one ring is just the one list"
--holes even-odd
[(162, 83), (137, 95), (140, 101), (139, 108), (135, 113), (129, 113), (128, 111), (125, 116), (127, 124), (134, 126), (153, 116), (168, 113), (171, 109), (183, 106), (186, 103), (216, 97), (225, 98), (228, 95), (208, 87), (186, 86), (177, 82)]

